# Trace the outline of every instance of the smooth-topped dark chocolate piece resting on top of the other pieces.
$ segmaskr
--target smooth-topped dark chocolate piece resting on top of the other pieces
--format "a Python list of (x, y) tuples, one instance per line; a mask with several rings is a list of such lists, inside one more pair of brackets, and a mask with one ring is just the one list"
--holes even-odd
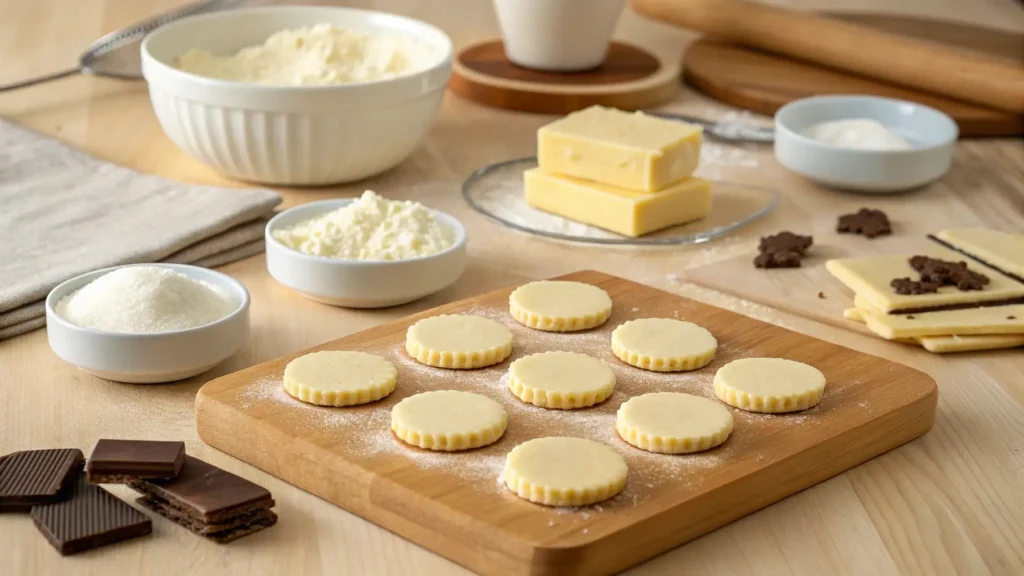
[(93, 484), (127, 484), (133, 479), (173, 480), (185, 462), (185, 443), (100, 440), (85, 470)]

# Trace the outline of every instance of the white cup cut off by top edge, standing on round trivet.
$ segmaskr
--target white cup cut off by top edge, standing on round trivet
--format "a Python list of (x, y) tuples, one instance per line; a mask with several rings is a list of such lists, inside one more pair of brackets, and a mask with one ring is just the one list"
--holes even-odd
[(601, 66), (626, 0), (495, 0), (505, 53), (537, 70)]

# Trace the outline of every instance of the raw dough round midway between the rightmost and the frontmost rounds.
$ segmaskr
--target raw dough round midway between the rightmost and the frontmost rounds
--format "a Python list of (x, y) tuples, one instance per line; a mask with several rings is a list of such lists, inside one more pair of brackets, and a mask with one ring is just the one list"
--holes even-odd
[(641, 450), (687, 454), (725, 442), (732, 431), (732, 414), (714, 400), (658, 392), (633, 397), (620, 406), (615, 429)]

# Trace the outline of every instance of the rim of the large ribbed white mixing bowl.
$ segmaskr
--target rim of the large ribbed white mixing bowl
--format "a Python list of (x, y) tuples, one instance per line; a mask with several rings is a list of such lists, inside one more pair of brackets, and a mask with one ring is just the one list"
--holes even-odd
[[(299, 85), (299, 86), (282, 86), (274, 84), (259, 84), (256, 82), (242, 82), (238, 80), (223, 80), (220, 78), (211, 78), (209, 76), (202, 76), (199, 74), (193, 74), (190, 72), (185, 72), (179, 70), (161, 58), (155, 56), (150, 52), (150, 43), (154, 38), (159, 39), (161, 35), (168, 34), (168, 31), (173, 31), (176, 27), (181, 27), (197, 20), (204, 19), (216, 19), (223, 17), (231, 17), (240, 13), (252, 13), (252, 12), (305, 12), (305, 11), (334, 11), (339, 13), (349, 13), (349, 14), (359, 14), (367, 16), (379, 16), (385, 18), (393, 18), (396, 20), (406, 20), (407, 23), (413, 24), (415, 26), (428, 29), (440, 38), (444, 39), (444, 44), (441, 47), (441, 54), (437, 60), (428, 68), (422, 70), (417, 70), (415, 72), (409, 72), (404, 74), (399, 74), (391, 78), (382, 78), (379, 80), (369, 80), (366, 82), (347, 82), (342, 84), (311, 84), (311, 85)], [(309, 25), (312, 26), (312, 25)], [(285, 29), (282, 29), (285, 30)], [(412, 35), (411, 35), (412, 36)], [(414, 36), (417, 40), (424, 41), (421, 36)], [(425, 42), (425, 41), (424, 41)], [(215, 10), (212, 12), (203, 12), (198, 14), (191, 14), (184, 16), (170, 23), (167, 23), (150, 34), (145, 35), (142, 39), (142, 44), (139, 47), (142, 59), (145, 64), (156, 68), (160, 74), (169, 75), (171, 78), (175, 78), (184, 82), (195, 82), (202, 86), (207, 86), (210, 88), (240, 88), (244, 87), (246, 89), (256, 90), (264, 93), (283, 93), (291, 91), (302, 91), (302, 92), (324, 92), (331, 90), (357, 90), (370, 86), (387, 86), (389, 84), (399, 83), (403, 81), (409, 81), (411, 78), (416, 78), (417, 76), (435, 74), (444, 69), (451, 69), (453, 54), (455, 53), (455, 45), (452, 42), (452, 37), (447, 35), (443, 30), (437, 28), (436, 26), (429, 24), (427, 22), (404, 16), (401, 14), (395, 14), (391, 12), (384, 12), (381, 10), (368, 10), (364, 8), (350, 8), (347, 6), (315, 6), (315, 5), (284, 5), (284, 6), (250, 6), (250, 7), (240, 7), (231, 8), (225, 10)]]

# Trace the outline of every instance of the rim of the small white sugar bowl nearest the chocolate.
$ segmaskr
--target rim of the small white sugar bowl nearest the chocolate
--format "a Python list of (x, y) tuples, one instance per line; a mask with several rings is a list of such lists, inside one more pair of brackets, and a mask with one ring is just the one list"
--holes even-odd
[[(89, 279), (88, 282), (82, 284), (82, 286), (80, 286), (75, 290), (78, 291), (84, 288), (92, 281), (96, 280), (97, 278), (100, 278), (101, 276), (104, 276), (106, 274), (110, 274), (116, 270), (120, 270), (123, 268), (134, 268), (134, 266), (162, 266), (178, 272), (182, 270), (194, 270), (194, 271), (198, 270), (198, 271), (203, 271), (204, 273), (210, 273), (218, 280), (224, 282), (227, 285), (230, 285), (232, 288), (238, 290), (239, 293), (242, 294), (242, 301), (239, 302), (238, 307), (236, 307), (234, 311), (231, 312), (231, 314), (228, 314), (224, 318), (221, 318), (219, 320), (214, 320), (213, 322), (203, 324), (202, 326), (186, 328), (184, 330), (170, 330), (167, 332), (112, 332), (110, 330), (99, 330), (97, 328), (89, 328), (88, 326), (80, 326), (78, 324), (75, 324), (74, 322), (66, 319), (65, 317), (60, 316), (60, 314), (57, 313), (57, 302), (59, 301), (57, 299), (57, 294), (60, 294), (60, 299), (63, 299), (65, 297), (72, 294), (72, 291), (69, 291), (68, 285), (79, 282), (86, 277), (92, 277)], [(193, 278), (195, 280), (195, 278), (191, 276), (189, 276), (189, 278)], [(61, 293), (61, 292), (67, 292), (67, 293)], [(70, 278), (61, 282), (60, 284), (57, 284), (52, 290), (50, 290), (50, 292), (46, 295), (45, 307), (46, 307), (47, 331), (49, 330), (49, 323), (51, 321), (55, 321), (55, 323), (59, 324), (61, 328), (77, 332), (81, 335), (100, 336), (100, 337), (118, 338), (118, 339), (129, 339), (129, 338), (160, 339), (160, 338), (167, 338), (169, 336), (190, 335), (205, 330), (210, 330), (215, 326), (233, 322), (236, 319), (238, 319), (239, 316), (246, 314), (246, 311), (249, 310), (250, 302), (251, 302), (251, 297), (249, 295), (249, 290), (246, 288), (245, 284), (243, 284), (239, 280), (236, 280), (234, 278), (231, 278), (230, 276), (227, 276), (226, 274), (220, 271), (216, 271), (209, 268), (197, 266), (193, 264), (178, 264), (171, 262), (137, 262), (131, 264), (120, 264), (120, 265), (97, 269), (91, 272), (80, 274), (78, 276), (75, 276), (74, 278)]]

